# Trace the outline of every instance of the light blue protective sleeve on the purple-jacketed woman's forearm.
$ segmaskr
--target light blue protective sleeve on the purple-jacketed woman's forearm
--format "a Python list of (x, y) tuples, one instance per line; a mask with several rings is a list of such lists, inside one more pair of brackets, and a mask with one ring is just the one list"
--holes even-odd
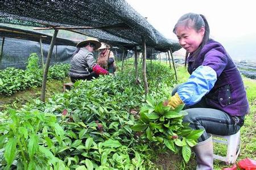
[(188, 81), (178, 88), (177, 94), (185, 105), (193, 105), (208, 94), (216, 81), (216, 71), (209, 66), (199, 66), (193, 71)]

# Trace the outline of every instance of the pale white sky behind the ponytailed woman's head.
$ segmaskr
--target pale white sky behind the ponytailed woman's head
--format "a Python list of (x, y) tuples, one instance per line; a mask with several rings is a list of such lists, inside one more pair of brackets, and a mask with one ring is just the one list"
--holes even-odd
[(126, 0), (139, 14), (147, 17), (160, 33), (176, 39), (172, 28), (181, 15), (203, 14), (210, 27), (210, 37), (217, 41), (256, 36), (256, 9), (250, 0)]

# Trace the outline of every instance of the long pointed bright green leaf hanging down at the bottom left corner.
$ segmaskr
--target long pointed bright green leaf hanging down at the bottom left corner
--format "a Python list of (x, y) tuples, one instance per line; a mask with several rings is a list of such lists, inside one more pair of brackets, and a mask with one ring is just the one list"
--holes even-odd
[(7, 162), (7, 167), (8, 168), (13, 163), (14, 158), (16, 156), (16, 144), (17, 144), (17, 139), (16, 138), (11, 138), (10, 141), (8, 141), (6, 143), (5, 153), (3, 154), (3, 156), (5, 156), (5, 160)]

